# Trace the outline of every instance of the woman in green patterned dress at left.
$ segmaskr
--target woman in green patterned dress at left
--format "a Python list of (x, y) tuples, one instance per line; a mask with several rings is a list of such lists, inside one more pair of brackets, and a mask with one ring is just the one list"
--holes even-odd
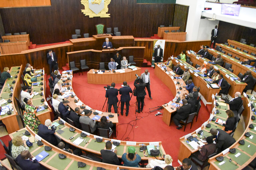
[(24, 125), (28, 125), (35, 133), (38, 132), (38, 125), (41, 124), (38, 117), (35, 115), (38, 106), (33, 106), (30, 99), (24, 98), (25, 111), (23, 115)]

